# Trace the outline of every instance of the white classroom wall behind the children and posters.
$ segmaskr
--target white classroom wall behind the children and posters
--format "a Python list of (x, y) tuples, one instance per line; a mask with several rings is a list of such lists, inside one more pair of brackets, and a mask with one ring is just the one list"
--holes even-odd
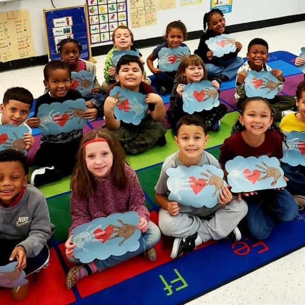
[[(176, 0), (175, 9), (157, 11), (156, 25), (132, 28), (135, 40), (163, 36), (166, 24), (176, 19), (184, 22), (190, 32), (201, 30), (202, 16), (210, 9), (210, 1), (202, 0), (202, 2), (200, 5), (181, 7), (180, 0)], [(67, 7), (82, 5), (84, 0), (53, 0), (53, 3), (56, 7)], [(226, 14), (227, 25), (305, 13), (305, 1), (303, 0), (256, 0), (254, 2), (250, 0), (232, 0), (232, 3), (232, 13)], [(0, 3), (0, 12), (28, 9), (32, 22), (36, 56), (47, 54), (42, 10), (51, 8), (50, 0), (23, 0)], [(109, 44), (109, 42), (104, 44)]]

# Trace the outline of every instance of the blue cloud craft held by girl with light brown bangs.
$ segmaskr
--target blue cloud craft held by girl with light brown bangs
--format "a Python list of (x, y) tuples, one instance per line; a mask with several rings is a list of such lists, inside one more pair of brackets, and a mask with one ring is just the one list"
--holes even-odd
[(219, 106), (219, 94), (210, 81), (203, 80), (185, 85), (182, 101), (183, 110), (193, 114), (195, 111), (201, 112)]

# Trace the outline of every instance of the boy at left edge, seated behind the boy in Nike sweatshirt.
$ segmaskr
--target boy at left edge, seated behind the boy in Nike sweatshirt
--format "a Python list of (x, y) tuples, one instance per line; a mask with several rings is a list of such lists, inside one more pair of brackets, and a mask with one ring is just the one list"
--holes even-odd
[(23, 135), (26, 150), (34, 145), (32, 129), (25, 123), (32, 105), (32, 93), (22, 87), (7, 89), (3, 96), (3, 104), (0, 105), (0, 125), (25, 126), (28, 129)]

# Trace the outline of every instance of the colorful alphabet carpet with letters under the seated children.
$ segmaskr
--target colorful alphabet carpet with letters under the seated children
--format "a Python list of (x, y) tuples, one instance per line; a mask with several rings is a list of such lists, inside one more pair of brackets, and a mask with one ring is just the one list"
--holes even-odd
[[(279, 68), (284, 72), (286, 82), (283, 94), (294, 95), (297, 83), (303, 79), (303, 75), (293, 65), (295, 55), (279, 51), (271, 53), (269, 58), (268, 64), (272, 68)], [(229, 113), (222, 119), (221, 131), (210, 133), (207, 148), (217, 158), (219, 146), (229, 136), (238, 115), (233, 94), (233, 81), (222, 84), (220, 98), (227, 105)], [(168, 96), (164, 100), (168, 103)], [(102, 124), (102, 120), (90, 123), (84, 132), (99, 128)], [(154, 200), (154, 186), (163, 160), (177, 149), (171, 130), (168, 130), (166, 138), (166, 146), (156, 146), (142, 155), (129, 157), (144, 190), (150, 218), (157, 224), (159, 207)], [(39, 139), (38, 134), (36, 139)], [(33, 152), (31, 154), (29, 157), (33, 159)], [(69, 182), (70, 178), (66, 177), (41, 188), (47, 197), (51, 221), (56, 226), (51, 240), (49, 267), (38, 274), (37, 281), (32, 284), (24, 301), (14, 302), (10, 290), (1, 289), (0, 305), (179, 304), (305, 246), (305, 213), (292, 222), (280, 223), (275, 232), (264, 241), (252, 240), (247, 236), (234, 243), (226, 239), (212, 240), (175, 260), (169, 257), (173, 239), (162, 236), (156, 246), (156, 262), (148, 262), (143, 256), (138, 256), (101, 273), (95, 273), (81, 280), (72, 290), (67, 290), (65, 279), (71, 265), (65, 258), (64, 241), (71, 224)]]

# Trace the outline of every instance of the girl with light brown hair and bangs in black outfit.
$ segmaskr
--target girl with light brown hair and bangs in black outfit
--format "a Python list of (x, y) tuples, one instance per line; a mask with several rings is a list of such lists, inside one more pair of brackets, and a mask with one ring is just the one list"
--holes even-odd
[[(185, 55), (182, 57), (169, 98), (170, 106), (167, 110), (167, 117), (173, 130), (176, 128), (177, 121), (187, 114), (182, 109), (182, 92), (184, 92), (185, 85), (189, 82), (200, 82), (206, 79), (207, 73), (202, 59), (198, 55)], [(216, 90), (219, 90), (219, 83), (216, 80), (212, 80), (211, 83)], [(224, 104), (220, 104), (210, 110), (194, 112), (194, 114), (203, 118), (207, 130), (214, 131), (220, 130), (220, 119), (226, 113), (227, 107)]]

